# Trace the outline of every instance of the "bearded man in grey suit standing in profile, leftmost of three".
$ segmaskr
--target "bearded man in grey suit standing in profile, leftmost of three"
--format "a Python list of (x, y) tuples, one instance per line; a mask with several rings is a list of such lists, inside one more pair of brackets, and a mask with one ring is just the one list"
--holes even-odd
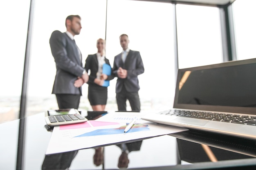
[(56, 63), (56, 76), (52, 94), (56, 95), (58, 107), (78, 108), (82, 95), (81, 86), (88, 82), (88, 74), (82, 66), (82, 55), (74, 41), (81, 31), (81, 17), (69, 15), (65, 22), (67, 31), (54, 31), (49, 40)]

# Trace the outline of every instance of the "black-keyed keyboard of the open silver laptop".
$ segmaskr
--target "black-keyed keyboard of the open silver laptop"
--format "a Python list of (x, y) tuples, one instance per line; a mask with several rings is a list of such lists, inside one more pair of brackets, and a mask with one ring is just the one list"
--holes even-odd
[(181, 117), (192, 117), (196, 119), (206, 119), (211, 121), (223, 121), (234, 124), (245, 124), (256, 126), (256, 116), (247, 115), (233, 115), (225, 113), (211, 113), (211, 112), (201, 112), (201, 111), (189, 111), (189, 110), (165, 110), (159, 112), (162, 115), (172, 115)]

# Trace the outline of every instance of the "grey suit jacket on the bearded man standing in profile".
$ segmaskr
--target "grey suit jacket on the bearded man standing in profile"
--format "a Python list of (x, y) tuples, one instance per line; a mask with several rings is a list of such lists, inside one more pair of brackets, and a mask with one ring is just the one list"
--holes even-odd
[(81, 77), (84, 71), (74, 40), (71, 40), (66, 33), (54, 31), (49, 43), (56, 63), (52, 94), (82, 95), (81, 87), (74, 86), (75, 80)]

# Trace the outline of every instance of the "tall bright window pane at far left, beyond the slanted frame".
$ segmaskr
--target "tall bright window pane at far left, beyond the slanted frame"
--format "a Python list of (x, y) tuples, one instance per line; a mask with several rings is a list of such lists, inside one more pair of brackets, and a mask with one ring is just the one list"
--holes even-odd
[(19, 117), (29, 7), (30, 0), (0, 2), (0, 123)]

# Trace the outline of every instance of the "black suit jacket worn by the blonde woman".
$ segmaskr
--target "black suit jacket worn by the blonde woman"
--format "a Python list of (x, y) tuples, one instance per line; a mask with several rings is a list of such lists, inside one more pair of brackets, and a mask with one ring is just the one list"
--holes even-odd
[[(105, 57), (105, 62), (106, 64), (110, 65), (109, 60)], [(99, 68), (99, 62), (97, 59), (97, 54), (92, 54), (92, 55), (88, 55), (88, 57), (85, 60), (85, 70), (88, 73), (88, 70), (90, 70), (90, 75), (89, 75), (89, 81), (87, 82), (88, 84), (94, 84), (94, 79), (97, 78), (97, 72), (98, 72), (98, 68)], [(97, 85), (98, 86), (98, 85)]]

